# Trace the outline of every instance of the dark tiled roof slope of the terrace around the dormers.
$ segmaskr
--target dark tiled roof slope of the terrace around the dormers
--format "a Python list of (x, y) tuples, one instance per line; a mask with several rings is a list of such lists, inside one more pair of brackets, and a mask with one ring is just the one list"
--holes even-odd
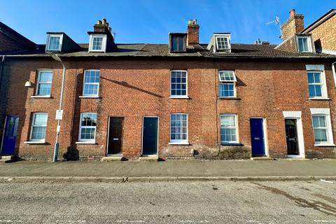
[[(116, 52), (88, 52), (88, 44), (79, 44), (80, 51), (59, 52), (59, 57), (216, 57), (216, 58), (336, 58), (335, 55), (315, 52), (286, 52), (274, 49), (276, 45), (255, 45), (232, 43), (231, 52), (213, 52), (207, 50), (207, 44), (188, 47), (186, 52), (169, 52), (168, 44), (117, 44)], [(50, 57), (45, 52), (45, 45), (38, 45), (39, 50), (21, 52), (9, 57)]]

